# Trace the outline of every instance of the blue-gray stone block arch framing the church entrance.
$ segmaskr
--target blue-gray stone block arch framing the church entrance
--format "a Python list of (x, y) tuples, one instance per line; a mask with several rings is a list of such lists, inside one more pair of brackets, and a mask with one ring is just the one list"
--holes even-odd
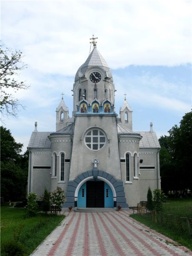
[(78, 185), (83, 180), (88, 180), (88, 178), (93, 177), (99, 179), (99, 177), (103, 177), (108, 180), (116, 192), (116, 206), (121, 205), (122, 208), (128, 208), (128, 204), (126, 203), (125, 192), (123, 187), (123, 182), (120, 180), (116, 180), (111, 174), (103, 171), (99, 171), (98, 169), (93, 169), (87, 172), (83, 172), (81, 175), (77, 176), (75, 180), (68, 181), (67, 184), (67, 192), (66, 192), (66, 199), (67, 201), (63, 204), (64, 208), (69, 206), (76, 207), (76, 200), (75, 192)]

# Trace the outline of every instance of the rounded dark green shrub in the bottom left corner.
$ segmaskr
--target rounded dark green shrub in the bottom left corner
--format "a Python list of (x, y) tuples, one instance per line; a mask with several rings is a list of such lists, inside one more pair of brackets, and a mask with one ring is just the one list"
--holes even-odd
[(1, 249), (2, 256), (25, 256), (24, 246), (15, 239), (7, 240)]

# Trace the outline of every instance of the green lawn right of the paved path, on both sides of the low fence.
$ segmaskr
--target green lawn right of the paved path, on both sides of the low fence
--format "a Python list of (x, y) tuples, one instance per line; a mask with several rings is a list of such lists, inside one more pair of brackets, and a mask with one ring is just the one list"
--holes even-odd
[[(166, 202), (163, 204), (163, 213), (177, 215), (180, 217), (187, 217), (192, 218), (192, 198), (174, 198), (174, 199), (167, 199)], [(183, 234), (178, 230), (174, 229), (173, 227), (162, 226), (161, 224), (154, 223), (151, 221), (150, 215), (137, 215), (132, 214), (130, 217), (134, 218), (137, 221), (145, 224), (146, 226), (150, 227), (153, 230), (156, 230), (159, 233), (177, 241), (178, 244), (184, 245), (192, 250), (192, 236), (188, 234)]]

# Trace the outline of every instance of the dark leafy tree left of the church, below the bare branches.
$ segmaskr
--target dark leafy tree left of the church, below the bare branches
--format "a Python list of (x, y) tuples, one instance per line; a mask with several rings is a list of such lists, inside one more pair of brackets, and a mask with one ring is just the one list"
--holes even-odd
[(1, 131), (1, 197), (5, 201), (18, 201), (26, 197), (28, 152), (21, 155), (23, 144), (16, 143), (10, 130)]

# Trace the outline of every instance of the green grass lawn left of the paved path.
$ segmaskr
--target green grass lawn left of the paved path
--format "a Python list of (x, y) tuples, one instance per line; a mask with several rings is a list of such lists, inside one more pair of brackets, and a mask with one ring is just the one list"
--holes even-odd
[(1, 206), (1, 248), (6, 241), (16, 239), (29, 255), (64, 219), (63, 215), (38, 213), (32, 218), (26, 215), (26, 209)]

